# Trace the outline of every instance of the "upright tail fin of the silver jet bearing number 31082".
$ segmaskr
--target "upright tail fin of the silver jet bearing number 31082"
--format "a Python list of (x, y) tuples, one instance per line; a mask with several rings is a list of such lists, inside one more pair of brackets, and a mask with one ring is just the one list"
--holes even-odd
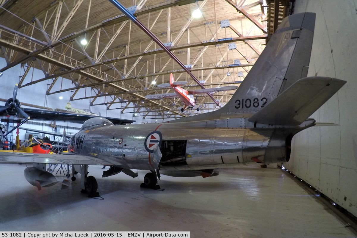
[(307, 76), (315, 13), (286, 17), (222, 113), (254, 113)]

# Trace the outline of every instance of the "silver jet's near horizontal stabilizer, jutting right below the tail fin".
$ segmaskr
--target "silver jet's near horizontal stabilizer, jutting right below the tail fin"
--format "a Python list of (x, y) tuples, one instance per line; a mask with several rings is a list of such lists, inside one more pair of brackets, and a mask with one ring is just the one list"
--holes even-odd
[(248, 121), (268, 125), (300, 125), (345, 83), (329, 77), (300, 79)]

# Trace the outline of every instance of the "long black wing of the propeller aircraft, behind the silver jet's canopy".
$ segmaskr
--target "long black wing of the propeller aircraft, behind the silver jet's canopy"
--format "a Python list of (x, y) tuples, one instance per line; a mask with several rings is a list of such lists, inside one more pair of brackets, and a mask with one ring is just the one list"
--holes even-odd
[[(90, 115), (81, 115), (75, 112), (59, 112), (59, 111), (50, 111), (50, 110), (42, 110), (42, 109), (34, 109), (34, 108), (22, 108), (31, 119), (37, 120), (46, 120), (46, 121), (69, 121), (74, 123), (83, 123), (86, 120), (92, 117), (99, 116), (90, 116)], [(135, 122), (134, 120), (120, 119), (114, 117), (105, 117), (114, 125), (125, 125), (128, 123)]]

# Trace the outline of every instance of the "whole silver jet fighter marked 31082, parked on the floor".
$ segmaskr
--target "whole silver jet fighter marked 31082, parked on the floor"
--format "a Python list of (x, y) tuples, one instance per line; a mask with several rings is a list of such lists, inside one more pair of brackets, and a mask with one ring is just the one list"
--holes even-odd
[(155, 189), (160, 174), (209, 177), (220, 168), (287, 162), (293, 136), (317, 125), (308, 117), (346, 83), (307, 77), (315, 17), (305, 12), (283, 19), (231, 100), (216, 111), (122, 126), (95, 117), (71, 138), (73, 155), (0, 152), (0, 162), (33, 163), (37, 173), (45, 163), (74, 164), (89, 194), (97, 191), (89, 165), (110, 166), (102, 177), (148, 170), (141, 186)]

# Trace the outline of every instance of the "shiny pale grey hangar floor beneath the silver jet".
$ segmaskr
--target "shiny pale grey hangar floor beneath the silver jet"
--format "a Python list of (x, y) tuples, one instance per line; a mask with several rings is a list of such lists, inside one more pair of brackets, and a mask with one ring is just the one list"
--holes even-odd
[[(25, 165), (0, 164), (0, 231), (190, 231), (191, 237), (355, 237), (281, 169), (243, 167), (212, 178), (162, 176), (165, 191), (140, 188), (146, 171), (101, 178), (104, 200), (68, 189), (37, 191)], [(78, 177), (79, 178), (79, 174)]]

